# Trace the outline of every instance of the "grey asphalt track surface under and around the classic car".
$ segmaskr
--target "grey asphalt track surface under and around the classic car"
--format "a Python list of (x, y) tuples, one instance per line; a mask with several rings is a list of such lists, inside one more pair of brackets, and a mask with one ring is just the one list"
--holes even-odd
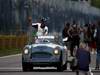
[[(95, 54), (91, 55), (92, 63), (91, 69), (93, 75), (100, 75), (100, 70), (94, 70), (95, 67)], [(35, 67), (32, 72), (23, 72), (21, 67), (21, 54), (0, 57), (0, 75), (76, 75), (71, 70), (65, 70), (64, 72), (57, 72), (56, 68)], [(80, 72), (80, 75), (84, 75)]]

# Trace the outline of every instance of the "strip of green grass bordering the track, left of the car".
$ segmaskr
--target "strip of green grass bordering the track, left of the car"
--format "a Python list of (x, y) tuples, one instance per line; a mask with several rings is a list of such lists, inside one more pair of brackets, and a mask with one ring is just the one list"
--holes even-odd
[(22, 52), (21, 49), (16, 49), (16, 48), (12, 48), (12, 49), (0, 49), (0, 57), (1, 56), (7, 56), (7, 55), (13, 55), (13, 54), (19, 54), (21, 52)]

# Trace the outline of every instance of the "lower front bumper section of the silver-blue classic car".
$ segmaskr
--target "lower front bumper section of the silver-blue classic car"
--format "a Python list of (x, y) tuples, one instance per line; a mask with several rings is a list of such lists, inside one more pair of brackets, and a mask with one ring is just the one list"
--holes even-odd
[(58, 66), (60, 56), (52, 56), (51, 58), (29, 58), (22, 57), (22, 64), (30, 64), (33, 66)]

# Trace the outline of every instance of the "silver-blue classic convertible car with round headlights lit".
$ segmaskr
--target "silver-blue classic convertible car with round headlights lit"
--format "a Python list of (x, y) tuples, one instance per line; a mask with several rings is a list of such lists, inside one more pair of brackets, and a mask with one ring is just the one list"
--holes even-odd
[(56, 67), (58, 71), (67, 68), (67, 48), (63, 46), (60, 38), (39, 36), (34, 44), (24, 47), (22, 69), (31, 71), (33, 67)]

